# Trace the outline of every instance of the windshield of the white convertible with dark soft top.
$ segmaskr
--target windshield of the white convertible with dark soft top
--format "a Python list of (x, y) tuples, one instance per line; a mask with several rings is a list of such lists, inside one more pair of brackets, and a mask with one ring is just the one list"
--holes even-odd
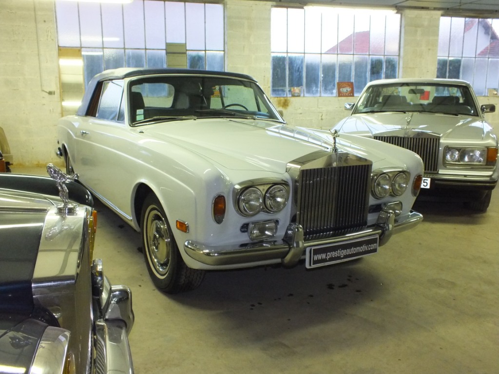
[(208, 117), (282, 121), (260, 87), (231, 77), (164, 75), (129, 84), (132, 125)]

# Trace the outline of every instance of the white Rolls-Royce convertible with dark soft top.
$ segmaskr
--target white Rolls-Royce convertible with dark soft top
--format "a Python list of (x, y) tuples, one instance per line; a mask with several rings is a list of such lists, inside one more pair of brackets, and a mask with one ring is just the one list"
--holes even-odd
[(362, 257), (423, 218), (418, 155), (289, 127), (243, 74), (105, 71), (58, 137), (67, 172), (142, 233), (167, 293), (205, 270)]

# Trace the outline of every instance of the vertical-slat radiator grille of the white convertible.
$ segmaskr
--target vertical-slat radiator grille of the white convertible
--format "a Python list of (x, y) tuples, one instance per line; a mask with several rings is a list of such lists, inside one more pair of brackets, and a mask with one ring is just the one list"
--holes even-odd
[(300, 171), (297, 223), (305, 240), (339, 235), (367, 224), (371, 165)]

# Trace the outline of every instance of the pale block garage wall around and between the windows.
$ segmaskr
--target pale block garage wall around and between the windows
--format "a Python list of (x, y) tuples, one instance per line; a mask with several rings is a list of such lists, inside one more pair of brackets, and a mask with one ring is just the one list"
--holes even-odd
[[(267, 1), (226, 0), (226, 70), (246, 73), (270, 93), (270, 9)], [(404, 10), (399, 77), (433, 78), (437, 69), (439, 11)], [(55, 156), (61, 117), (53, 0), (3, 0), (0, 8), (0, 126), (16, 166), (62, 165)], [(328, 129), (356, 98), (274, 97), (290, 125)], [(498, 97), (479, 97), (499, 105)], [(499, 108), (498, 108), (499, 109)], [(499, 132), (499, 111), (487, 114)]]

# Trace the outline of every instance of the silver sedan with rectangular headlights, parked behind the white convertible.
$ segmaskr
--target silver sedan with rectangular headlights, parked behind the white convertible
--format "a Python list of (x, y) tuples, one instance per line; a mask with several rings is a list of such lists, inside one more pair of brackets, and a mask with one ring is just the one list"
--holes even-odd
[[(416, 152), (425, 164), (420, 196), (465, 202), (485, 212), (499, 170), (498, 139), (468, 82), (387, 79), (369, 83), (333, 130)], [(421, 198), (420, 197), (420, 198)]]

